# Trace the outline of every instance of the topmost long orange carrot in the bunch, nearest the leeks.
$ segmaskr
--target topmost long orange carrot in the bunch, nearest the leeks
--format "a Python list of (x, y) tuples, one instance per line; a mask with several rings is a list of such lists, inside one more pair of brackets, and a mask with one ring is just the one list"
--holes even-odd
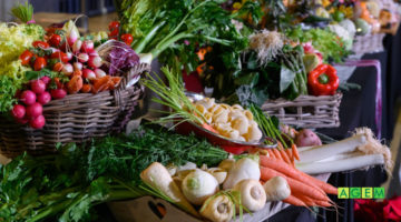
[(287, 176), (291, 176), (295, 180), (299, 180), (301, 182), (304, 182), (309, 185), (313, 185), (316, 188), (322, 189), (324, 192), (330, 194), (338, 194), (338, 189), (333, 185), (325, 183), (319, 179), (315, 179), (302, 171), (296, 170), (295, 168), (292, 168), (288, 164), (285, 164), (283, 161), (268, 159), (266, 157), (260, 157), (261, 165), (265, 168), (270, 168), (273, 170), (276, 170), (278, 172), (284, 173)]

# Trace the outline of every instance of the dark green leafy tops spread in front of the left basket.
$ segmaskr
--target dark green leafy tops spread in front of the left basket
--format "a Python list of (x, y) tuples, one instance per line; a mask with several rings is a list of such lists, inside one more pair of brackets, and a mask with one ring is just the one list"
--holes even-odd
[(98, 203), (154, 194), (139, 176), (154, 162), (183, 165), (190, 161), (200, 167), (226, 158), (225, 151), (193, 135), (149, 128), (85, 147), (67, 144), (52, 155), (23, 154), (0, 167), (0, 216), (7, 221), (87, 220), (92, 218), (89, 209)]

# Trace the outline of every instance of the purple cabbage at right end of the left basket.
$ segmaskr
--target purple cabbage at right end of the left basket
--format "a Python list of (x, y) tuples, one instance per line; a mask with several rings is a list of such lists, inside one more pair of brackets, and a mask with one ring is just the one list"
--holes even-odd
[(109, 64), (109, 74), (116, 75), (119, 72), (126, 72), (136, 64), (139, 64), (138, 54), (126, 43), (120, 41), (113, 42), (113, 49), (107, 56)]

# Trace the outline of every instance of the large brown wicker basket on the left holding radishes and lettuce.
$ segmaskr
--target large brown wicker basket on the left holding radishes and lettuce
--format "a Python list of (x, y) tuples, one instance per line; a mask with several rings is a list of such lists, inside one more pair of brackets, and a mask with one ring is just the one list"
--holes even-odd
[[(129, 71), (129, 75), (149, 70), (148, 64), (139, 64)], [(59, 142), (79, 143), (120, 131), (143, 94), (141, 87), (125, 88), (126, 83), (126, 78), (123, 78), (117, 90), (69, 94), (50, 101), (43, 105), (46, 125), (41, 130), (17, 124), (12, 119), (0, 115), (0, 153), (8, 158), (23, 151), (46, 154), (53, 152), (55, 144)]]

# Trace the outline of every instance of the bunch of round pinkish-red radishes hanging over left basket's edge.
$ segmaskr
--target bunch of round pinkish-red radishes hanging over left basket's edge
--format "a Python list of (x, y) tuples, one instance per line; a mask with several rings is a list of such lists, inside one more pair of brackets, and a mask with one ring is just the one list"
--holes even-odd
[(29, 123), (33, 129), (43, 128), (46, 123), (43, 104), (49, 103), (51, 99), (62, 99), (67, 94), (63, 89), (49, 90), (49, 77), (32, 80), (25, 91), (17, 94), (19, 104), (12, 108), (11, 114), (18, 123)]

